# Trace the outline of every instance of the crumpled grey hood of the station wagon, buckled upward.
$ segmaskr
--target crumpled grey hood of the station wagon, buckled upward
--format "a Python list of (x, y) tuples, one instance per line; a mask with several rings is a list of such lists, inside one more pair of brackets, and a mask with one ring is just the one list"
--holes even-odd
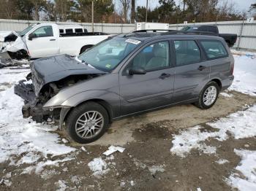
[(39, 95), (42, 87), (49, 82), (56, 82), (72, 75), (105, 74), (106, 72), (75, 61), (75, 58), (69, 55), (57, 55), (41, 58), (31, 63), (31, 73), (34, 92)]

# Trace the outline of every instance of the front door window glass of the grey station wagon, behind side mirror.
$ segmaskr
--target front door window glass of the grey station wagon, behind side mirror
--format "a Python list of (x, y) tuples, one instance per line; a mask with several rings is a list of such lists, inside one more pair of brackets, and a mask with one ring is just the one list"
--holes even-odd
[(157, 42), (144, 47), (130, 63), (131, 68), (143, 68), (154, 71), (169, 66), (169, 42)]

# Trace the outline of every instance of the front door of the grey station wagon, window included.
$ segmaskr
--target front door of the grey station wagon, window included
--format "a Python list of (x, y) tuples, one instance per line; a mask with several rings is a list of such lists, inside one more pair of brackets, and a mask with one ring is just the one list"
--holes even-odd
[[(146, 74), (129, 74), (129, 69)], [(121, 115), (142, 112), (171, 103), (174, 69), (168, 41), (144, 47), (119, 74)]]

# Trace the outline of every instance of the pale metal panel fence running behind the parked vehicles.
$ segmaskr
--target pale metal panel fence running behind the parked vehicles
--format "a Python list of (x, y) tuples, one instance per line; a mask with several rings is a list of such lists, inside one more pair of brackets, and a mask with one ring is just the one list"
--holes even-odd
[[(48, 23), (48, 21), (35, 20), (5, 20), (0, 19), (0, 31), (22, 31), (29, 25), (34, 23)], [(50, 23), (50, 22), (49, 22)], [(73, 22), (52, 22), (60, 25), (74, 25), (78, 24), (91, 31), (91, 23), (73, 23)], [(223, 22), (208, 22), (208, 23), (188, 23), (172, 24), (170, 29), (179, 30), (184, 26), (191, 25), (216, 25), (219, 28), (219, 33), (237, 34), (238, 39), (234, 47), (238, 49), (256, 50), (256, 21), (247, 23), (246, 21), (223, 21)], [(135, 30), (134, 24), (120, 24), (120, 23), (94, 23), (94, 31), (105, 32), (109, 34), (129, 33)]]

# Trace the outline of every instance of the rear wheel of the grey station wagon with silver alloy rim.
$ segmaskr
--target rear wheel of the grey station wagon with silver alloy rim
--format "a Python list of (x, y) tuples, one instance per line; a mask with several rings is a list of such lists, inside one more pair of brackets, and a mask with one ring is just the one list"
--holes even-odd
[(217, 101), (219, 95), (219, 85), (217, 82), (208, 82), (201, 90), (197, 103), (195, 105), (200, 109), (211, 108)]

